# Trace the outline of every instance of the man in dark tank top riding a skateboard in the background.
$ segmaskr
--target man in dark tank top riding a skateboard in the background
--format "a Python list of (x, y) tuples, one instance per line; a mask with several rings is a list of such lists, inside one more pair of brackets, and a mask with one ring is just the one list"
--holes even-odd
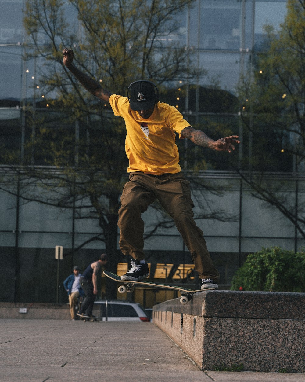
[(98, 293), (97, 274), (101, 268), (101, 265), (105, 265), (107, 261), (108, 255), (103, 253), (100, 259), (88, 265), (80, 277), (80, 285), (85, 292), (85, 298), (83, 299), (79, 313), (77, 313), (78, 316), (95, 318), (95, 316), (92, 316), (92, 309)]

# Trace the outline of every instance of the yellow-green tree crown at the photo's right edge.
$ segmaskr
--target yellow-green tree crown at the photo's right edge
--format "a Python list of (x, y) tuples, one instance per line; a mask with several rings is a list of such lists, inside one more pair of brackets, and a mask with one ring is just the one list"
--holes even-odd
[(304, 35), (305, 4), (288, 0), (284, 23), (278, 31), (265, 26), (265, 42), (255, 47), (249, 72), (241, 78), (244, 143), (247, 131), (260, 137), (252, 147), (255, 170), (292, 171), (293, 155), (304, 160)]

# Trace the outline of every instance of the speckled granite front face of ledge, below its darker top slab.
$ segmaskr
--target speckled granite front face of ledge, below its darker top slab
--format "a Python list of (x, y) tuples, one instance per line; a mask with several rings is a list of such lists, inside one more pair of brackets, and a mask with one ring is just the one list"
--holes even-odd
[(303, 320), (203, 319), (202, 369), (303, 373)]

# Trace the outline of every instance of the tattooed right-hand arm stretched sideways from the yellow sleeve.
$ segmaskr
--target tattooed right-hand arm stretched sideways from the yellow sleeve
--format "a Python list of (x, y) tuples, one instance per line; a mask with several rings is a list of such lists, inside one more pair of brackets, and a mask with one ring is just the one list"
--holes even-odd
[(217, 141), (214, 141), (203, 131), (193, 129), (191, 126), (184, 128), (181, 131), (181, 136), (188, 138), (198, 146), (209, 147), (209, 149), (217, 151), (231, 152), (232, 150), (235, 150), (233, 143), (240, 143), (240, 141), (238, 141), (238, 135), (231, 135), (230, 137), (220, 138)]

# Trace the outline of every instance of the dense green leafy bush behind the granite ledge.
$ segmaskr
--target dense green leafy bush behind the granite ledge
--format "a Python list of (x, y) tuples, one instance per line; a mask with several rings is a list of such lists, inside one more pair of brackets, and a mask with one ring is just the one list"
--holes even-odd
[(231, 290), (305, 292), (305, 253), (279, 247), (249, 254), (232, 279)]

